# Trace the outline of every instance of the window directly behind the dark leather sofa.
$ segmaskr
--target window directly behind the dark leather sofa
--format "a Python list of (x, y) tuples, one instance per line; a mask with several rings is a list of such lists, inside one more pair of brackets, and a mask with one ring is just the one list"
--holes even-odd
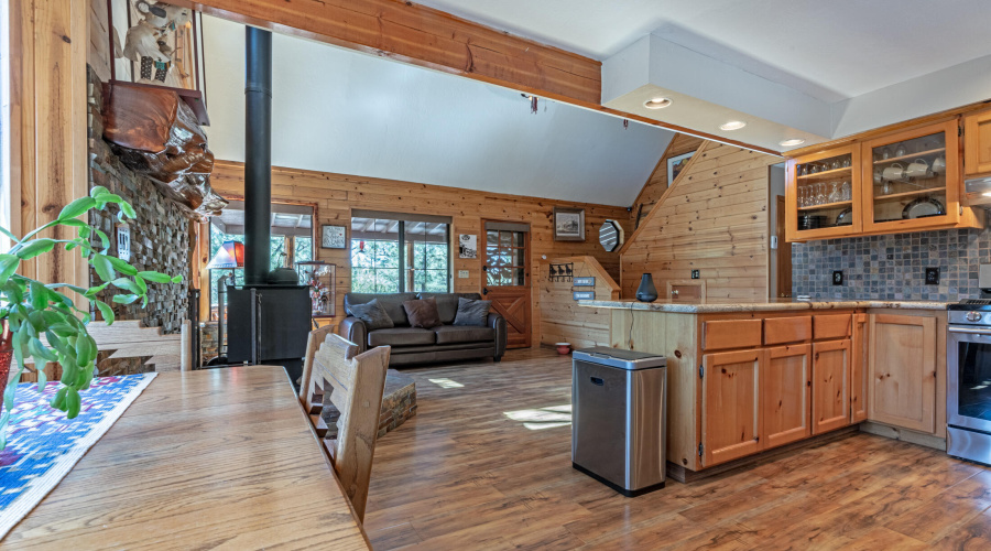
[(449, 218), (355, 210), (351, 291), (437, 292), (450, 289)]

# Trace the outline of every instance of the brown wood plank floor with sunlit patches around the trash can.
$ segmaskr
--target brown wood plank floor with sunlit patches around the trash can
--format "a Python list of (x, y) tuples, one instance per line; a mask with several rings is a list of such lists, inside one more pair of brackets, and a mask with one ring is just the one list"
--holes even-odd
[(625, 498), (571, 468), (570, 358), (407, 369), (379, 440), (374, 549), (989, 549), (991, 469), (865, 433)]

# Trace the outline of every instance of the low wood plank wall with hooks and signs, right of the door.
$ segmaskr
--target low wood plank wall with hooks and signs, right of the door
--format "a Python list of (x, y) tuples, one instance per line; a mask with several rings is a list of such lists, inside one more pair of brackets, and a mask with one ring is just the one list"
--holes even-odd
[[(596, 287), (574, 287), (570, 281), (551, 281), (551, 263), (573, 262), (575, 277), (593, 277)], [(596, 300), (619, 300), (620, 288), (593, 257), (552, 258), (541, 262), (541, 344), (571, 343), (573, 348), (609, 346), (612, 311), (579, 306), (573, 291), (596, 291)]]

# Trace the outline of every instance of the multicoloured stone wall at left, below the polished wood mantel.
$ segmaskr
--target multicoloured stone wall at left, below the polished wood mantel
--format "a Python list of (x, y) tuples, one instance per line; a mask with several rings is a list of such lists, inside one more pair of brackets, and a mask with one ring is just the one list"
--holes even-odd
[[(155, 184), (123, 164), (111, 145), (104, 140), (102, 83), (94, 71), (89, 78), (89, 183), (102, 185), (127, 199), (138, 213), (131, 227), (131, 266), (139, 270), (156, 270), (171, 276), (183, 276), (182, 283), (149, 283), (148, 306), (115, 304), (112, 296), (123, 291), (108, 288), (98, 296), (113, 306), (119, 320), (141, 320), (149, 327), (162, 326), (165, 333), (177, 333), (186, 318), (188, 306), (189, 220), (179, 207), (166, 198)], [(90, 224), (110, 238), (109, 253), (117, 255), (117, 207), (108, 206), (104, 213), (90, 213)], [(99, 245), (98, 239), (94, 239)], [(90, 281), (99, 282), (96, 272)]]

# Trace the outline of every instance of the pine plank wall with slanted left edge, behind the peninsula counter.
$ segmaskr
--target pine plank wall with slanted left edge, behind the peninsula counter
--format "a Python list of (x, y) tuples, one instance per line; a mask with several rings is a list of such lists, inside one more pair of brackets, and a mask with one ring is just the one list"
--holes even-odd
[(650, 272), (663, 299), (668, 281), (697, 269), (708, 299), (766, 299), (769, 166), (782, 161), (704, 143), (621, 250), (622, 295)]

